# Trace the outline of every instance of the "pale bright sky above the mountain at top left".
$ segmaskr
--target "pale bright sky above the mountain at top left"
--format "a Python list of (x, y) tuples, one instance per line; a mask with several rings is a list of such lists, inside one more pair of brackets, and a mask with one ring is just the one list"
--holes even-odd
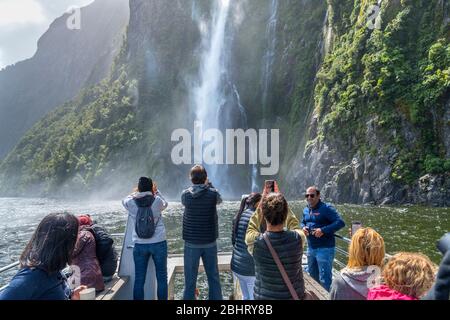
[(71, 6), (94, 0), (0, 0), (0, 69), (31, 58), (38, 39)]

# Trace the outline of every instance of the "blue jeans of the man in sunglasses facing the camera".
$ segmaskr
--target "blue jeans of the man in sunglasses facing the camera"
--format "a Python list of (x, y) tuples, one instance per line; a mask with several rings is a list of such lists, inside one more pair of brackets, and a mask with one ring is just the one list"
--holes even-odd
[(335, 248), (308, 248), (308, 273), (330, 291)]

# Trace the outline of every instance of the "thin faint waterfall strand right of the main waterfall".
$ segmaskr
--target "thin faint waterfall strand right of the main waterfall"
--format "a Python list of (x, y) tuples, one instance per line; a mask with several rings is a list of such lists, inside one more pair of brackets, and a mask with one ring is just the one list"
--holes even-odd
[(268, 93), (272, 80), (272, 68), (275, 59), (275, 49), (277, 44), (276, 31), (278, 19), (278, 0), (272, 0), (270, 5), (270, 17), (266, 28), (267, 50), (263, 58), (263, 83), (262, 83), (262, 127), (266, 125)]

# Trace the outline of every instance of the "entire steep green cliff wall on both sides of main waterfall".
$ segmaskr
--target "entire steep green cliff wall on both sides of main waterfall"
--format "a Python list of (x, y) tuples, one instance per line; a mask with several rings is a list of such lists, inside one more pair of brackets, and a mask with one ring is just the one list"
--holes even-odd
[[(172, 163), (170, 136), (193, 130), (215, 3), (130, 0), (111, 77), (29, 131), (0, 180), (117, 195), (151, 175), (177, 198), (190, 165)], [(448, 3), (383, 1), (376, 28), (370, 4), (231, 0), (221, 128), (280, 129), (275, 178), (291, 198), (315, 184), (335, 202), (449, 205)], [(250, 175), (223, 171), (230, 195), (248, 192)]]

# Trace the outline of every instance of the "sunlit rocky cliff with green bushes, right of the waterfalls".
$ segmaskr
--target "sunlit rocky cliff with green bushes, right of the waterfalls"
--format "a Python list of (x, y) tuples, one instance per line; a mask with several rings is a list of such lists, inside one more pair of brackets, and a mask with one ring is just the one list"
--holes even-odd
[(315, 184), (336, 202), (448, 206), (445, 2), (384, 1), (375, 30), (361, 22), (366, 2), (329, 5), (336, 40), (319, 72), (310, 141), (285, 174), (291, 194)]

